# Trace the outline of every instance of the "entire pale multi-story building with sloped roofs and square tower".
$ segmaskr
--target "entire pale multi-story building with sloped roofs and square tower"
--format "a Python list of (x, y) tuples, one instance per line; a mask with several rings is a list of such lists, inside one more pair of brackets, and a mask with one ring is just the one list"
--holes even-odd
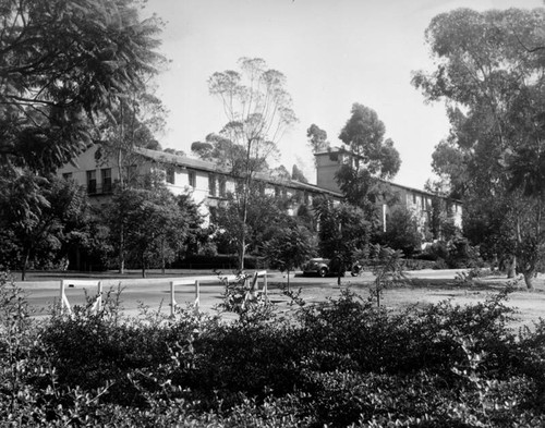
[[(313, 199), (320, 195), (337, 201), (342, 200), (335, 174), (343, 163), (352, 161), (352, 155), (343, 149), (332, 149), (315, 156), (316, 185), (264, 173), (257, 173), (255, 180), (261, 184), (264, 194), (289, 198), (291, 200), (289, 211), (292, 215), (303, 205), (311, 206)], [(175, 195), (191, 194), (195, 203), (199, 204), (205, 218), (209, 218), (210, 213), (227, 200), (228, 193), (233, 192), (237, 186), (237, 179), (230, 174), (227, 167), (186, 156), (135, 148), (130, 164), (124, 171), (124, 176), (143, 176), (154, 171), (161, 171), (167, 187)], [(113, 184), (121, 178), (120, 167), (114, 157), (104, 156), (99, 146), (89, 147), (75, 161), (61, 168), (59, 174), (73, 179), (84, 186), (92, 201), (96, 204), (107, 201), (113, 191)], [(393, 195), (388, 203), (380, 204), (379, 207), (384, 229), (391, 212), (399, 207), (412, 210), (423, 227), (429, 217), (435, 195), (391, 182), (384, 183), (390, 187), (390, 193)], [(444, 205), (455, 224), (461, 227), (461, 203), (446, 198)]]

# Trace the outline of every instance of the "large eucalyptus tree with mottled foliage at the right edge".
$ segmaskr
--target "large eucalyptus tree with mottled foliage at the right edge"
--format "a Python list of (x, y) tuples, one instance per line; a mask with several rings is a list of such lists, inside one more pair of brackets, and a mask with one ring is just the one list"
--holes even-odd
[(544, 25), (543, 9), (437, 15), (426, 30), (437, 69), (413, 77), (428, 100), (446, 101), (451, 122), (434, 167), (471, 204), (472, 219), (502, 207), (500, 229), (489, 233), (512, 243), (501, 247), (517, 257), (529, 288), (545, 244), (545, 62), (533, 49), (544, 45)]

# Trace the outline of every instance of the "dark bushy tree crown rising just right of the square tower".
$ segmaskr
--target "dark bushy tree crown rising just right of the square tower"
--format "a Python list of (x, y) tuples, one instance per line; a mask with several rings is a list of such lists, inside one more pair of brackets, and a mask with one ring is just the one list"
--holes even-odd
[(360, 103), (352, 106), (352, 113), (339, 138), (348, 146), (350, 159), (336, 174), (347, 200), (367, 211), (382, 193), (377, 179), (390, 179), (399, 171), (401, 160), (393, 142), (384, 139), (386, 127), (377, 113)]

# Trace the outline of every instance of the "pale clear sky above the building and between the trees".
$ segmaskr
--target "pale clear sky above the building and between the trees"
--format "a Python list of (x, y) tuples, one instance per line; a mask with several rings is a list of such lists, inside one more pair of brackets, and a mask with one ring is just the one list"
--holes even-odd
[[(283, 73), (299, 122), (278, 143), (278, 163), (316, 182), (306, 130), (325, 130), (331, 146), (352, 105), (378, 114), (401, 157), (395, 183), (423, 188), (433, 178), (434, 147), (448, 135), (441, 103), (428, 105), (411, 73), (433, 71), (424, 33), (431, 20), (458, 8), (533, 9), (543, 0), (148, 0), (146, 13), (166, 22), (160, 48), (169, 60), (157, 95), (169, 110), (164, 148), (191, 155), (191, 144), (225, 125), (209, 95), (215, 72), (262, 58)], [(274, 162), (272, 162), (274, 163)]]

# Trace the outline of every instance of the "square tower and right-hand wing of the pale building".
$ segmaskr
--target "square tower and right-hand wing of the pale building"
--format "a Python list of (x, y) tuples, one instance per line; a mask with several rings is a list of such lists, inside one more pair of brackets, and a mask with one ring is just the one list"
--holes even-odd
[[(354, 161), (354, 155), (341, 148), (332, 148), (328, 151), (322, 151), (314, 155), (316, 157), (316, 183), (320, 188), (340, 193), (339, 185), (335, 180), (335, 175), (342, 164)], [(390, 188), (393, 195), (388, 204), (380, 204), (380, 217), (383, 229), (386, 230), (388, 218), (400, 207), (405, 207), (411, 210), (421, 230), (429, 218), (432, 210), (433, 198), (436, 197), (433, 193), (404, 186), (401, 184), (383, 181)], [(444, 205), (447, 210), (447, 217), (453, 220), (453, 223), (462, 227), (462, 204), (460, 200), (444, 198)]]

